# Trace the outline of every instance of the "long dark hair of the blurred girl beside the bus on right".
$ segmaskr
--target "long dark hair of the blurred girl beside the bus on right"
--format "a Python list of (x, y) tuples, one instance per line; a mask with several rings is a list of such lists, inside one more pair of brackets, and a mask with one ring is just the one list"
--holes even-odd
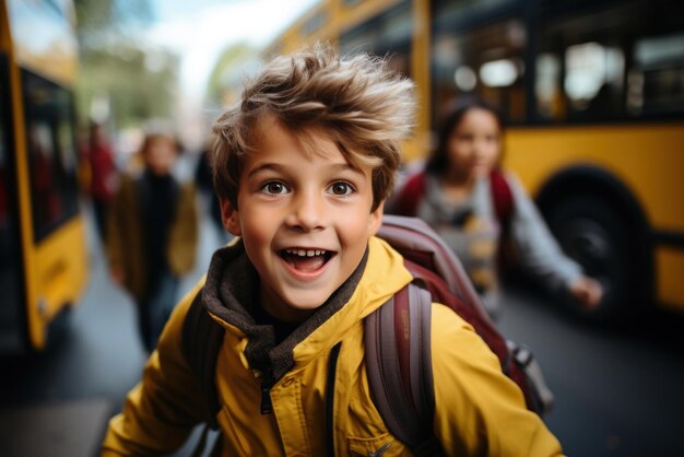
[(453, 106), (447, 112), (446, 117), (441, 121), (441, 127), (439, 128), (437, 134), (437, 145), (431, 152), (427, 157), (427, 162), (425, 164), (425, 172), (429, 175), (434, 176), (444, 176), (449, 169), (449, 140), (451, 138), (451, 133), (453, 129), (461, 124), (461, 119), (470, 109), (480, 108), (485, 109), (494, 115), (496, 118), (496, 122), (498, 124), (499, 130), (504, 132), (504, 119), (502, 114), (494, 105), (474, 97), (468, 97), (459, 99)]

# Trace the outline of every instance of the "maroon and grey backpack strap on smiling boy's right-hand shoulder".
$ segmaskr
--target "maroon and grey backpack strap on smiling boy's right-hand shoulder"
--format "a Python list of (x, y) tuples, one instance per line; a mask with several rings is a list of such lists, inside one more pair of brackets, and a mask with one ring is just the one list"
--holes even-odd
[(365, 319), (373, 401), (390, 433), (416, 456), (444, 455), (434, 436), (432, 297), (409, 284)]

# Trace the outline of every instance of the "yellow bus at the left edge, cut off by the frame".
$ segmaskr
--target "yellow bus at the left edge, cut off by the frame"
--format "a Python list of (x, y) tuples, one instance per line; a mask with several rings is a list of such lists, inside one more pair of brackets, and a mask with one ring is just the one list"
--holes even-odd
[(66, 0), (0, 7), (0, 351), (46, 347), (86, 283)]

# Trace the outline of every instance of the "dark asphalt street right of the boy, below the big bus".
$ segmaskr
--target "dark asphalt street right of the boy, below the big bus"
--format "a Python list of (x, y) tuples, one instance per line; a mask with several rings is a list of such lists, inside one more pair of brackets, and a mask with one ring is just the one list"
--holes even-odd
[(544, 419), (568, 456), (682, 455), (681, 316), (654, 313), (609, 330), (539, 293), (516, 289), (507, 298), (500, 329), (534, 351), (556, 398)]

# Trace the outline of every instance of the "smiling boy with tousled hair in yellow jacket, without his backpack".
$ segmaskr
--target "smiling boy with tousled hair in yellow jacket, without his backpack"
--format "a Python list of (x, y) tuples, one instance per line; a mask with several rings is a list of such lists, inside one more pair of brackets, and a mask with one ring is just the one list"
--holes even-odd
[[(214, 126), (223, 221), (240, 237), (216, 251), (201, 292), (225, 329), (215, 374), (222, 455), (411, 455), (373, 403), (363, 325), (411, 281), (374, 236), (410, 133), (411, 92), (378, 59), (316, 47), (275, 59)], [(201, 420), (181, 347), (201, 286), (174, 312), (103, 455), (172, 452)], [(434, 431), (446, 454), (561, 455), (486, 344), (452, 310), (433, 307)]]

